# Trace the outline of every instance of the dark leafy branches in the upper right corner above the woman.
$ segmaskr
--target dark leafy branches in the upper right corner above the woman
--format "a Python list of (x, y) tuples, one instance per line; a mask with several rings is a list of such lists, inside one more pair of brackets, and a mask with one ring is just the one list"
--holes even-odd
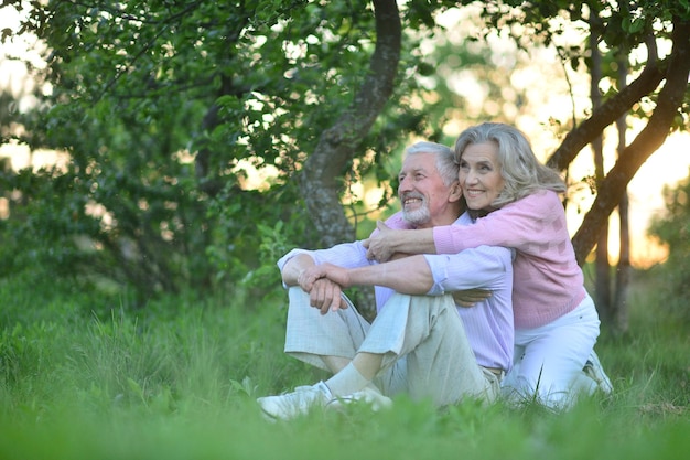
[[(592, 35), (604, 57), (602, 76), (606, 83), (600, 82), (599, 87), (610, 99), (622, 89), (617, 83), (619, 60), (627, 56), (626, 65), (632, 77), (654, 64), (660, 57), (658, 47), (671, 40), (673, 21), (679, 26), (687, 26), (682, 24), (690, 21), (690, 4), (673, 0), (621, 3), (589, 0), (526, 3), (508, 0), (484, 2), (482, 17), (488, 26), (477, 39), (486, 39), (502, 31), (528, 54), (533, 50), (535, 41), (538, 41), (554, 47), (561, 63), (573, 72), (582, 68), (591, 71), (586, 35)], [(568, 35), (573, 32), (581, 33), (582, 40), (569, 40)], [(653, 36), (655, 40), (650, 40)], [(648, 60), (632, 58), (630, 52), (636, 50), (646, 51)], [(646, 103), (656, 101), (657, 97), (658, 88)], [(647, 119), (654, 111), (651, 107), (649, 104), (636, 104), (628, 109), (630, 115)], [(582, 117), (580, 114), (573, 115)], [(684, 100), (680, 104), (672, 129), (686, 130), (689, 116), (690, 105)]]

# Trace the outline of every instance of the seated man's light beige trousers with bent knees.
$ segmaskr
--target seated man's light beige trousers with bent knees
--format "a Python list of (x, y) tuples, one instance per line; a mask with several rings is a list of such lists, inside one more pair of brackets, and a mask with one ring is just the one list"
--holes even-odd
[(299, 360), (327, 371), (321, 356), (382, 354), (375, 384), (384, 394), (406, 392), (438, 406), (490, 402), (499, 393), (499, 378), (477, 364), (451, 296), (395, 293), (371, 324), (345, 296), (349, 308), (325, 315), (299, 287), (289, 296), (285, 353)]

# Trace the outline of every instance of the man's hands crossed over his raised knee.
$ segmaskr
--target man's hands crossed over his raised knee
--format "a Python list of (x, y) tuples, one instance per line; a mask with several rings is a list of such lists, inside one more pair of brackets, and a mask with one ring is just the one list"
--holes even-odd
[(321, 314), (347, 308), (342, 297), (343, 288), (349, 286), (346, 281), (347, 270), (332, 264), (310, 267), (298, 278), (302, 290), (309, 292), (310, 304)]

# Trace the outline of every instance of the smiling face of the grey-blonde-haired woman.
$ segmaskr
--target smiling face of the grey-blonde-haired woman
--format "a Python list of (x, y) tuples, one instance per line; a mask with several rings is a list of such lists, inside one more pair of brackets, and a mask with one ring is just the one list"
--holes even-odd
[(472, 143), (460, 157), (460, 186), (471, 210), (490, 207), (504, 188), (498, 164), (498, 146), (494, 142)]

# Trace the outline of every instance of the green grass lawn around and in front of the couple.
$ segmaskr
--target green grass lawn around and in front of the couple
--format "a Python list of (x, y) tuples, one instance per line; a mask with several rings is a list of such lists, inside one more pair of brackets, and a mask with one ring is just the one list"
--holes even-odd
[(630, 332), (597, 351), (616, 392), (565, 414), (537, 406), (445, 410), (395, 399), (266, 421), (256, 397), (324, 375), (282, 353), (284, 298), (162, 299), (0, 280), (0, 458), (684, 459), (688, 323), (630, 298)]

